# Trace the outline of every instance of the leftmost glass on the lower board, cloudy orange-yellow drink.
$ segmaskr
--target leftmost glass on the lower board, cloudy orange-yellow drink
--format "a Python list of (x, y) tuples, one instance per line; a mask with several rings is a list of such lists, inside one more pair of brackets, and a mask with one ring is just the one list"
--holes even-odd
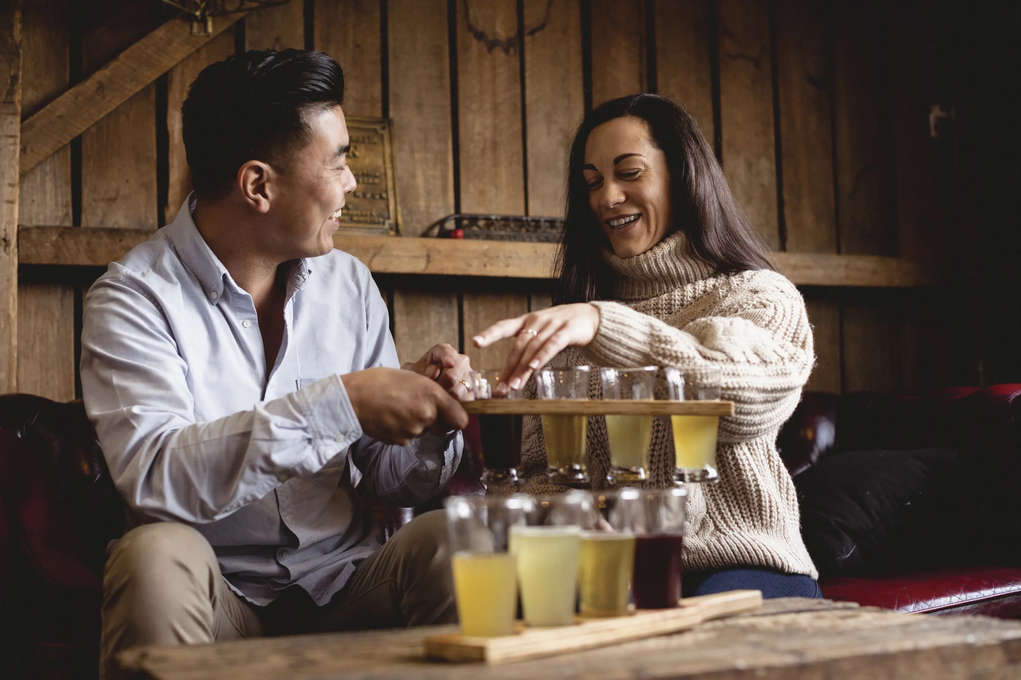
[(518, 569), (508, 550), (510, 530), (534, 515), (535, 501), (524, 493), (460, 495), (448, 498), (443, 506), (461, 634), (510, 635), (518, 613)]

